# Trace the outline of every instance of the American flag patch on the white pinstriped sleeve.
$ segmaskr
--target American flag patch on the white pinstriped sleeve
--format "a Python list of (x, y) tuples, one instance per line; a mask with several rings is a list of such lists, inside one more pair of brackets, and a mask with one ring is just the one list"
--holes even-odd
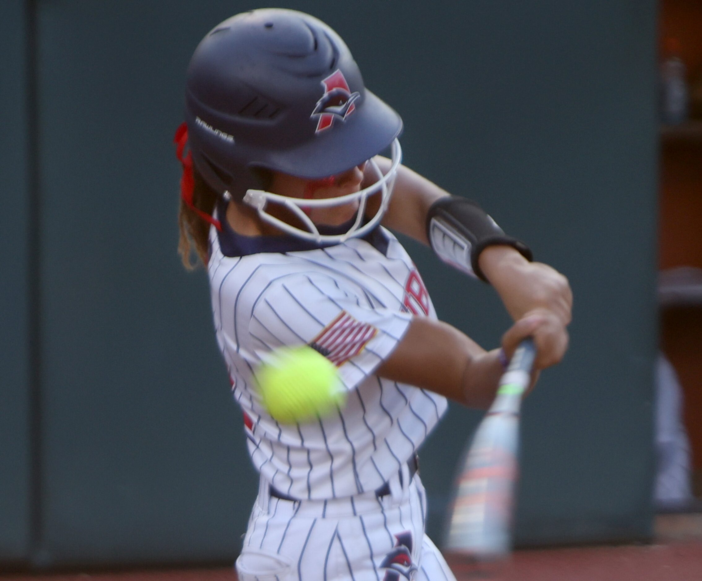
[(362, 352), (377, 333), (378, 329), (373, 325), (357, 321), (342, 311), (310, 342), (310, 347), (340, 367)]

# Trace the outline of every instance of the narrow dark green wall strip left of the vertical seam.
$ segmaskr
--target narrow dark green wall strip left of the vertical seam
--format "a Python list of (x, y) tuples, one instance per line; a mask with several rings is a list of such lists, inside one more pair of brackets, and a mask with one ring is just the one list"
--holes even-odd
[(0, 563), (23, 561), (31, 530), (29, 143), (24, 2), (0, 11)]

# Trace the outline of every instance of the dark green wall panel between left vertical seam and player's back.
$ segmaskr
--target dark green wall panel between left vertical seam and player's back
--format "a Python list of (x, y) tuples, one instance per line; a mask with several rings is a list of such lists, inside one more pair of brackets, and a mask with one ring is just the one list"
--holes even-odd
[(255, 493), (206, 276), (176, 255), (204, 23), (166, 6), (40, 3), (41, 565), (231, 560)]

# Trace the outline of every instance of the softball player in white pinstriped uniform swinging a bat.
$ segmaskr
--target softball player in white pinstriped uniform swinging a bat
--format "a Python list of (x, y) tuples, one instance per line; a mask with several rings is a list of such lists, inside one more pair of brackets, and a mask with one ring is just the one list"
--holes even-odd
[[(180, 252), (207, 266), (260, 473), (239, 579), (453, 579), (424, 533), (417, 450), (447, 397), (491, 401), (522, 338), (534, 336), (538, 368), (562, 358), (567, 281), (475, 203), (400, 164), (398, 114), (309, 15), (251, 11), (215, 27), (190, 62), (185, 116)], [(385, 227), (494, 285), (516, 321), (502, 349), (437, 321)], [(349, 397), (329, 417), (284, 425), (253, 376), (272, 349), (303, 344), (338, 367)]]

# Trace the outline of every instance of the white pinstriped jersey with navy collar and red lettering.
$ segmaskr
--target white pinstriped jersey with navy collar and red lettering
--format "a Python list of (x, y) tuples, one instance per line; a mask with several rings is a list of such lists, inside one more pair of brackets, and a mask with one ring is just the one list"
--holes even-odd
[[(319, 247), (290, 236), (211, 229), (214, 324), (244, 410), (253, 464), (277, 490), (322, 500), (375, 490), (397, 474), (446, 410), (433, 392), (374, 375), (411, 316), (436, 318), (402, 245), (379, 227)], [(347, 403), (322, 420), (276, 422), (253, 372), (266, 352), (311, 344), (337, 366)]]

